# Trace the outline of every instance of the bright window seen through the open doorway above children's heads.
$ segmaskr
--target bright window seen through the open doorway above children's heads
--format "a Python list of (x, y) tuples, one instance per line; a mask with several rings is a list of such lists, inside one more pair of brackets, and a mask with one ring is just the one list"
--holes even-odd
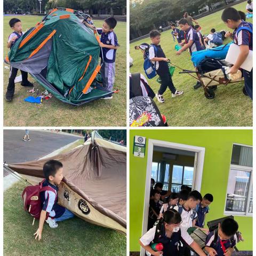
[(181, 185), (192, 187), (194, 167), (173, 165), (171, 191), (178, 193)]

